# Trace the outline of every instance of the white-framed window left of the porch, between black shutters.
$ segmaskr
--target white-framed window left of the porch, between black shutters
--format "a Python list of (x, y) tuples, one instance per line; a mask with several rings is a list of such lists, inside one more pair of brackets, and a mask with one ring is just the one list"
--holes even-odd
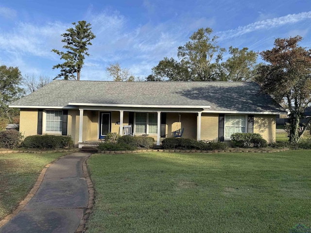
[(62, 110), (46, 110), (45, 111), (45, 131), (46, 132), (62, 132), (63, 111)]

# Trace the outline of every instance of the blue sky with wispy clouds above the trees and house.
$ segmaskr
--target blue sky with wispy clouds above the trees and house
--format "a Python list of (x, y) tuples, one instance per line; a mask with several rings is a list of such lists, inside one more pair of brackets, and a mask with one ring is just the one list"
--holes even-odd
[(80, 20), (96, 35), (81, 80), (110, 80), (105, 69), (116, 62), (146, 77), (199, 28), (212, 28), (226, 49), (268, 50), (277, 37), (298, 34), (311, 47), (311, 0), (1, 0), (0, 64), (54, 78), (61, 61), (51, 50), (62, 49), (60, 35)]

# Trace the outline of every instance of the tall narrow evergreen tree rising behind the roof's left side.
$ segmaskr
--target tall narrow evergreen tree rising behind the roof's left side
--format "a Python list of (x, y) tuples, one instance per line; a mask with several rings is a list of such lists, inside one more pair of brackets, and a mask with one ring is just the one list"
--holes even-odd
[[(55, 79), (64, 77), (66, 80), (80, 80), (80, 72), (84, 65), (85, 55), (89, 56), (87, 46), (92, 45), (90, 41), (96, 37), (91, 32), (90, 23), (86, 23), (83, 20), (78, 21), (78, 24), (75, 22), (72, 24), (75, 27), (67, 29), (68, 33), (61, 35), (63, 37), (62, 42), (66, 43), (63, 48), (67, 51), (52, 50), (52, 52), (60, 56), (60, 59), (65, 60), (64, 63), (52, 67), (53, 69), (60, 69), (60, 74)], [(75, 73), (77, 77), (75, 77)]]

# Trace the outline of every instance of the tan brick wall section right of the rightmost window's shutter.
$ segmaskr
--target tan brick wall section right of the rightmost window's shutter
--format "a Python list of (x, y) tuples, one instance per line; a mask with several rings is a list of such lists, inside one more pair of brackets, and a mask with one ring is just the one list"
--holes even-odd
[(276, 116), (254, 116), (254, 133), (260, 133), (267, 142), (276, 141)]

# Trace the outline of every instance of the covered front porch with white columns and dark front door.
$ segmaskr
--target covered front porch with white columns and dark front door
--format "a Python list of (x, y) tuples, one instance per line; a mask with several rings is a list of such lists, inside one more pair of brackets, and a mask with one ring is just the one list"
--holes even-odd
[(183, 137), (201, 139), (201, 112), (79, 109), (75, 116), (71, 116), (69, 127), (70, 124), (71, 128), (76, 127), (74, 140), (75, 144), (79, 145), (84, 142), (100, 143), (100, 139), (104, 139), (109, 132), (124, 135), (123, 129), (127, 125), (131, 125), (133, 136), (148, 135), (155, 139), (156, 145), (160, 145), (164, 138), (173, 137), (173, 132), (182, 129)]

